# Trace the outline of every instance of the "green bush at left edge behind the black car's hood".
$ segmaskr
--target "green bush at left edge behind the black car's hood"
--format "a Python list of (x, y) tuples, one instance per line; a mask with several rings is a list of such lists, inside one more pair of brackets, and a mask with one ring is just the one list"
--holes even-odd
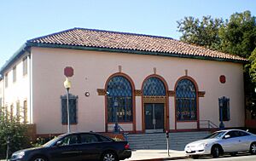
[(10, 117), (3, 107), (0, 107), (0, 158), (6, 158), (7, 140), (9, 138), (9, 154), (29, 147), (26, 135), (26, 124), (20, 124), (20, 118)]

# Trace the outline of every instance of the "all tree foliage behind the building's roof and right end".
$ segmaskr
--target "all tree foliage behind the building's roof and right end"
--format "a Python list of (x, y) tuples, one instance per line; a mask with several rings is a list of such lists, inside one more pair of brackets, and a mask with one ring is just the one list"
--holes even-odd
[(212, 19), (203, 16), (202, 20), (185, 17), (177, 22), (180, 40), (204, 46), (209, 49), (239, 55), (247, 58), (244, 82), (247, 110), (251, 118), (256, 118), (256, 18), (250, 11), (231, 14), (230, 20)]

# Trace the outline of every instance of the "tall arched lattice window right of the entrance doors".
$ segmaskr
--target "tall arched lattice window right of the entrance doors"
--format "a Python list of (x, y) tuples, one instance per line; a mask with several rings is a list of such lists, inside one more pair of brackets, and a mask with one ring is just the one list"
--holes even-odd
[(195, 84), (187, 78), (180, 80), (176, 86), (177, 120), (197, 120)]

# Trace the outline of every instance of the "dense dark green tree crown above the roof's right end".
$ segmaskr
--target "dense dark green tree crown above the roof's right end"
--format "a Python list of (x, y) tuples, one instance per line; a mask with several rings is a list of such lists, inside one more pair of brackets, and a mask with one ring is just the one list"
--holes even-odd
[(220, 49), (224, 53), (248, 58), (256, 47), (256, 20), (250, 11), (236, 13), (219, 29)]

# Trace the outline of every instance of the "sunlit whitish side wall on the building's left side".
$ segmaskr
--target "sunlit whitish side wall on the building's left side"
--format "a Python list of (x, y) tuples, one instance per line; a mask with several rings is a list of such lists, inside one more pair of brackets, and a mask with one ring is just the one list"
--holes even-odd
[[(14, 66), (16, 66), (16, 80), (14, 81), (13, 73)], [(8, 77), (8, 86), (5, 86), (6, 74)], [(16, 60), (13, 66), (9, 67), (9, 70), (4, 72), (3, 80), (1, 82), (1, 93), (3, 98), (3, 106), (8, 107), (10, 112), (10, 106), (13, 106), (13, 112), (16, 114), (17, 102), (20, 102), (20, 115), (24, 117), (24, 101), (29, 101), (29, 76), (23, 75), (23, 58)], [(1, 97), (1, 95), (0, 95)], [(27, 118), (28, 123), (32, 123), (29, 119), (29, 106), (27, 106)], [(21, 120), (22, 121), (22, 120)]]

